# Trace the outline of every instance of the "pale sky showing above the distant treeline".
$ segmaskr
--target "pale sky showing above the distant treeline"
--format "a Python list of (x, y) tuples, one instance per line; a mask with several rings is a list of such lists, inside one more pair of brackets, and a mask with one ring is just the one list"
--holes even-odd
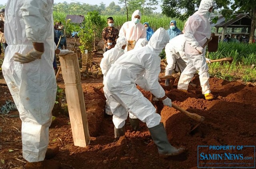
[[(0, 4), (6, 4), (8, 0), (1, 0)], [(54, 3), (59, 3), (59, 2), (68, 2), (68, 4), (70, 2), (83, 2), (83, 3), (86, 3), (86, 4), (91, 4), (91, 5), (100, 5), (100, 2), (103, 2), (104, 4), (106, 4), (106, 6), (108, 6), (110, 4), (110, 2), (115, 2), (116, 5), (119, 5), (121, 6), (122, 4), (118, 4), (118, 0), (54, 0)], [(161, 2), (159, 2), (160, 4)], [(158, 9), (155, 11), (155, 12), (162, 12), (160, 6), (156, 6), (158, 7)]]

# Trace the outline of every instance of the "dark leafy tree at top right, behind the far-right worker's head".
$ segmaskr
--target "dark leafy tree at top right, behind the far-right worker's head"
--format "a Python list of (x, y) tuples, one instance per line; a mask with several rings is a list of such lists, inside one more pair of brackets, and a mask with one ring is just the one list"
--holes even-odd
[[(186, 20), (194, 14), (201, 0), (163, 0), (162, 13), (166, 16)], [(194, 5), (191, 5), (194, 4)], [(249, 13), (252, 19), (250, 43), (252, 43), (256, 29), (256, 3), (255, 0), (216, 0), (214, 10), (221, 10), (221, 14), (229, 20), (234, 14)], [(216, 22), (216, 20), (215, 20)]]

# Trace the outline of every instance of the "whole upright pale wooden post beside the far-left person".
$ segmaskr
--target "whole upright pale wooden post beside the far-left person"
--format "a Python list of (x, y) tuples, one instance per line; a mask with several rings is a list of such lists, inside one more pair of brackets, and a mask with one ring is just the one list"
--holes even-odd
[(90, 135), (77, 54), (60, 56), (60, 65), (65, 83), (74, 145), (86, 147), (86, 145), (90, 144)]

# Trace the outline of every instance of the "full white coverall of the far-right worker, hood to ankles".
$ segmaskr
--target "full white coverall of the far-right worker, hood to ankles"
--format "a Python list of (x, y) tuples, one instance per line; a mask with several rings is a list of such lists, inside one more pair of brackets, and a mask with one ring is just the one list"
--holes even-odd
[(213, 0), (202, 0), (198, 11), (190, 16), (185, 27), (185, 53), (188, 58), (187, 67), (180, 75), (178, 89), (188, 89), (189, 82), (194, 77), (194, 73), (199, 71), (199, 79), (202, 87), (202, 94), (210, 93), (208, 65), (206, 64), (205, 48), (202, 54), (198, 53), (198, 49), (202, 48), (210, 38), (210, 12), (208, 10), (214, 5)]

